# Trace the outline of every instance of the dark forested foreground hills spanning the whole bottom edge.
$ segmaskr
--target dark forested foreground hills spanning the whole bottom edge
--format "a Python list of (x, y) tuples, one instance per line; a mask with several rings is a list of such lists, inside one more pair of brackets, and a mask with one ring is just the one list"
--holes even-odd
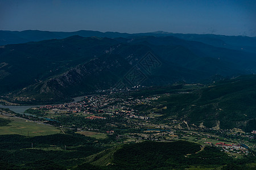
[(233, 159), (216, 147), (187, 141), (117, 145), (111, 136), (95, 142), (79, 134), (0, 139), (1, 169), (250, 169), (255, 163), (252, 155)]

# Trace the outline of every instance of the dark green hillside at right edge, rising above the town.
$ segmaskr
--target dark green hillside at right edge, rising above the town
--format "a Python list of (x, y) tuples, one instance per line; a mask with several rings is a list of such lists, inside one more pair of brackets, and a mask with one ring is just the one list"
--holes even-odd
[[(156, 100), (147, 112), (162, 114), (159, 121), (164, 122), (185, 120), (190, 125), (250, 132), (256, 129), (255, 83), (255, 75), (238, 76), (185, 94), (171, 92)], [(155, 111), (155, 107), (166, 109)]]

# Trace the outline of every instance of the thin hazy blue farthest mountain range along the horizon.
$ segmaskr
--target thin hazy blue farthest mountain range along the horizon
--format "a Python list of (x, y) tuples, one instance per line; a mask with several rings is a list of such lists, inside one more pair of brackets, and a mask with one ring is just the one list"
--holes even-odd
[(256, 37), (247, 36), (224, 36), (213, 34), (183, 34), (170, 33), (163, 31), (148, 32), (148, 33), (119, 33), (119, 32), (100, 32), (100, 31), (75, 31), (75, 32), (53, 32), (53, 31), (0, 31), (0, 45), (20, 44), (30, 41), (42, 41), (51, 39), (65, 39), (69, 36), (82, 37), (108, 37), (108, 38), (130, 38), (133, 36), (175, 36), (180, 39), (189, 41), (199, 41), (204, 44), (213, 45), (221, 48), (229, 48), (243, 51), (256, 52)]

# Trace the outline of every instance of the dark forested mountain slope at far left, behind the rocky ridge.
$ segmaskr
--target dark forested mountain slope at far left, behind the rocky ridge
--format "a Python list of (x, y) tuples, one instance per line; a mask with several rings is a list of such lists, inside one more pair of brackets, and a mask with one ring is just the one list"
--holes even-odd
[(42, 82), (89, 61), (114, 40), (69, 37), (0, 48), (0, 93)]

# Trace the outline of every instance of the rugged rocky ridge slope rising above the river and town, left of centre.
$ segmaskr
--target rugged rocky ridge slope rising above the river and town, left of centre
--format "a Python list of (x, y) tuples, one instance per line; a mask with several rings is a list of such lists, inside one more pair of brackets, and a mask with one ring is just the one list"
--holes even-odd
[(70, 100), (71, 97), (84, 95), (86, 92), (114, 87), (126, 72), (134, 67), (138, 54), (123, 55), (114, 53), (115, 47), (110, 49), (111, 52), (107, 49), (101, 56), (77, 65), (63, 74), (31, 84), (22, 91), (13, 92), (11, 101), (43, 103), (47, 100)]

